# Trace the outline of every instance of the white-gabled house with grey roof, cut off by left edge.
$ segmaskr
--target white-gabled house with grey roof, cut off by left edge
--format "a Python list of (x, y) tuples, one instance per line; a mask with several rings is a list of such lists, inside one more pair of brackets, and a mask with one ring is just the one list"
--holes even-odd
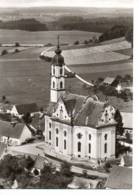
[(10, 122), (0, 120), (0, 142), (16, 146), (31, 137), (31, 131), (25, 124), (11, 124)]

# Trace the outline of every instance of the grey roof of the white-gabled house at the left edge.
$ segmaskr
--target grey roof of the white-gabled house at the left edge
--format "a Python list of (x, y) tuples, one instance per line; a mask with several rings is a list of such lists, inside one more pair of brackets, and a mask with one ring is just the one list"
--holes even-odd
[(15, 126), (11, 125), (10, 122), (0, 120), (0, 136), (20, 138), (24, 124), (17, 123)]

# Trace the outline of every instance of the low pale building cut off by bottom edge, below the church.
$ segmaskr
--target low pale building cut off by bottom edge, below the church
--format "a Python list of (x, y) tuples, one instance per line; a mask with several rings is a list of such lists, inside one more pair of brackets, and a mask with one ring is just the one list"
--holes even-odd
[(69, 189), (102, 189), (103, 182), (100, 179), (88, 179), (84, 177), (74, 176), (72, 182), (68, 184)]

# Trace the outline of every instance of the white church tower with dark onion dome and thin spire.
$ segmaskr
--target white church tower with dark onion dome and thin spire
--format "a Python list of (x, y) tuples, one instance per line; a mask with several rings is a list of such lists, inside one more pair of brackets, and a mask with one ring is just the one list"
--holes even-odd
[(59, 97), (65, 92), (65, 70), (64, 57), (61, 55), (62, 51), (59, 46), (59, 36), (56, 55), (52, 59), (51, 64), (51, 90), (50, 102), (57, 102)]

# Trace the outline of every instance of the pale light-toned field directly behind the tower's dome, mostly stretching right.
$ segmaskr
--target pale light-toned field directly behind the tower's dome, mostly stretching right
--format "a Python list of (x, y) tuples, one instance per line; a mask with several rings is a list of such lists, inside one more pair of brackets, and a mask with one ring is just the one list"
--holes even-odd
[[(116, 51), (129, 49), (130, 47), (127, 41), (122, 40), (94, 47), (64, 50), (63, 55), (67, 65), (116, 62), (129, 59), (128, 55)], [(52, 57), (52, 49), (50, 51), (44, 51), (43, 55)]]

